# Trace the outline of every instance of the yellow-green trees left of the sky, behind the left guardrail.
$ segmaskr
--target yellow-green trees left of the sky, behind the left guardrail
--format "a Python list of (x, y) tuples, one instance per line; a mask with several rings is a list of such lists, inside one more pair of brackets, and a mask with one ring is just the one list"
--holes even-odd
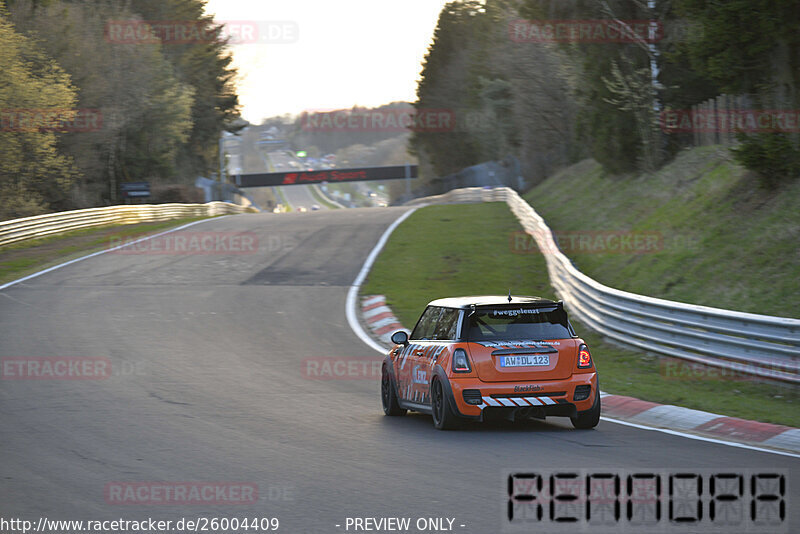
[[(203, 5), (0, 0), (0, 220), (117, 203), (120, 182), (213, 171), (239, 104)], [(109, 37), (110, 21), (186, 21), (212, 38), (132, 44)], [(37, 110), (59, 110), (61, 122), (21, 127)]]

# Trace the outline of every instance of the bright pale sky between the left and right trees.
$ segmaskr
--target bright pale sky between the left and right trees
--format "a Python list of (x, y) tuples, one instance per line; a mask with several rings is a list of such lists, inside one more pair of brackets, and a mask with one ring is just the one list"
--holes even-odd
[(422, 61), (445, 3), (210, 0), (206, 12), (218, 21), (296, 24), (298, 36), (287, 35), (287, 42), (231, 47), (242, 115), (260, 122), (309, 109), (414, 101)]

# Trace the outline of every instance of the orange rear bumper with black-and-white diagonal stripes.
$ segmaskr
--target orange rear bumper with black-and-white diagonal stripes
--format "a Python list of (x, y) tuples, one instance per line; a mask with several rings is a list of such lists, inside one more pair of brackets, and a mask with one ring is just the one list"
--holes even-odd
[[(537, 416), (576, 415), (591, 409), (597, 394), (597, 373), (576, 373), (566, 380), (539, 382), (483, 382), (477, 378), (450, 377), (452, 402), (462, 417), (482, 419), (489, 412), (519, 412), (536, 414)], [(583, 391), (582, 400), (575, 400), (575, 390), (579, 386)], [(586, 387), (589, 387), (588, 394)], [(475, 399), (468, 403), (467, 397)], [(480, 401), (475, 390), (480, 391)], [(470, 395), (471, 394), (471, 395)], [(580, 397), (579, 397), (580, 398)]]

